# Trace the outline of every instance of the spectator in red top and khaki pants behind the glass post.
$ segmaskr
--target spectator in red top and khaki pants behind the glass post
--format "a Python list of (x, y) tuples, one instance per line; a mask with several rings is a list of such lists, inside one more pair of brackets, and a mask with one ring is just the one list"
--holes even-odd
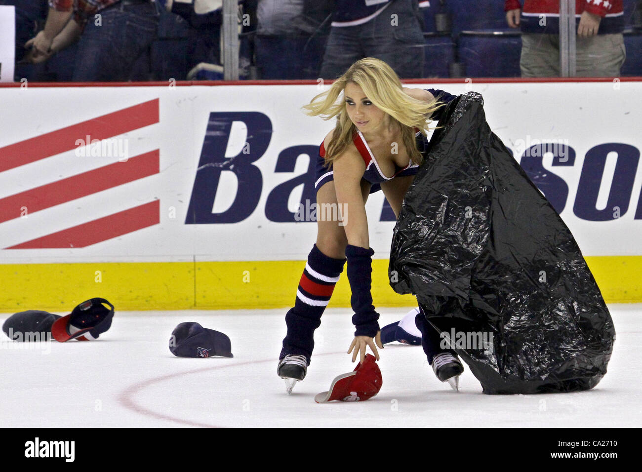
[[(622, 0), (577, 0), (576, 75), (617, 77), (626, 58)], [(522, 77), (559, 77), (559, 2), (505, 0), (508, 26), (521, 26)], [(520, 15), (521, 12), (521, 15)]]

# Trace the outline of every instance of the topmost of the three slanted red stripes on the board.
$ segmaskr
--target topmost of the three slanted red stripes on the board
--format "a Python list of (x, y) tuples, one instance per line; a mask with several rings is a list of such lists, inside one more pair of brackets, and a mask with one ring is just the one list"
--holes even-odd
[(156, 98), (4, 146), (0, 148), (0, 172), (77, 148), (76, 140), (84, 142), (87, 135), (91, 140), (107, 139), (158, 122), (159, 99)]

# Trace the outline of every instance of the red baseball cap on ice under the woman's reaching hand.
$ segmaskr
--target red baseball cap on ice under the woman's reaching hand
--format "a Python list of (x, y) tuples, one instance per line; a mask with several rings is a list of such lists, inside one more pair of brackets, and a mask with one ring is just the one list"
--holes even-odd
[(317, 403), (333, 400), (363, 401), (374, 397), (381, 390), (381, 371), (372, 354), (367, 354), (354, 371), (342, 374), (332, 381), (330, 390), (315, 396)]

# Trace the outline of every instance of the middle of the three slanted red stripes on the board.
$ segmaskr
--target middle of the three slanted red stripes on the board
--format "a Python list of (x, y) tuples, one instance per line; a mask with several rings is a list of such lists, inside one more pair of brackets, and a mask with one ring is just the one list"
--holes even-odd
[(0, 199), (0, 223), (159, 173), (159, 150)]

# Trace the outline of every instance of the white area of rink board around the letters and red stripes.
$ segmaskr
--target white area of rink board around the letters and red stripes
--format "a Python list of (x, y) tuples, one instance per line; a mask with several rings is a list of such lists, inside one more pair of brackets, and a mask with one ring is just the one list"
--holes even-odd
[[(472, 83), (410, 84), (413, 88), (445, 89), (453, 94), (474, 90), (485, 100), (487, 121), (508, 148), (517, 154), (520, 141), (568, 140), (577, 152), (573, 166), (544, 168), (568, 186), (561, 213), (585, 256), (642, 255), (642, 220), (634, 219), (642, 188), (638, 165), (629, 209), (610, 221), (588, 221), (573, 213), (584, 157), (605, 143), (624, 143), (642, 149), (642, 83)], [(145, 101), (159, 99), (159, 122), (117, 136), (126, 140), (132, 157), (158, 149), (160, 173), (94, 195), (56, 205), (28, 218), (0, 223), (0, 248), (62, 231), (74, 225), (160, 200), (160, 224), (130, 232), (81, 249), (0, 249), (3, 263), (63, 263), (82, 261), (243, 261), (305, 259), (316, 227), (312, 222), (280, 223), (266, 217), (268, 195), (275, 187), (308, 170), (302, 154), (293, 171), (275, 172), (277, 157), (291, 146), (315, 146), (333, 123), (305, 116), (300, 107), (320, 92), (316, 85), (220, 85), (191, 87), (27, 87), (0, 89), (0, 148), (69, 127)], [(265, 153), (252, 164), (261, 173), (259, 201), (247, 218), (236, 223), (186, 224), (211, 112), (255, 112), (271, 122)], [(226, 158), (241, 152), (247, 139), (241, 121), (232, 125)], [(84, 139), (85, 136), (78, 136)], [(79, 157), (76, 149), (0, 172), (0, 199), (78, 173), (100, 168), (117, 157)], [(638, 152), (639, 154), (639, 152)], [(611, 163), (613, 164), (614, 157)], [(614, 164), (613, 164), (614, 165)], [(611, 187), (613, 170), (602, 180), (600, 204)], [(609, 170), (610, 169), (610, 170)], [(609, 176), (609, 172), (611, 175)], [(236, 174), (223, 171), (212, 202), (216, 212), (232, 204), (238, 187)], [(302, 186), (288, 199), (296, 211)], [(243, 195), (239, 196), (242, 199)], [(601, 199), (601, 200), (600, 200)], [(370, 245), (375, 258), (387, 258), (394, 222), (380, 222), (383, 193), (370, 195), (367, 213)], [(601, 203), (600, 203), (601, 202)], [(175, 218), (171, 218), (171, 208)]]

